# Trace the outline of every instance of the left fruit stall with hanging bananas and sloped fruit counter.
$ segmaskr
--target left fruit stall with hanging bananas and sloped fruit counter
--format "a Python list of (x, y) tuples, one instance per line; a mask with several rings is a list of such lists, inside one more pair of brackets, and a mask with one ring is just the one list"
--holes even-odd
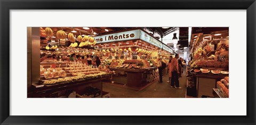
[(102, 80), (110, 79), (113, 72), (83, 60), (86, 55), (100, 54), (94, 49), (95, 44), (93, 37), (76, 36), (62, 28), (29, 27), (28, 97), (102, 97), (102, 93), (107, 94), (102, 91)]

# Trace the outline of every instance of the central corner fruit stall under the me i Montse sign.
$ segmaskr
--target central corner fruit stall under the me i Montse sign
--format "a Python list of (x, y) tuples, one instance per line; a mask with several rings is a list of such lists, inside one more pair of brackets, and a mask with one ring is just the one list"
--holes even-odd
[(141, 29), (114, 32), (94, 39), (97, 40), (95, 49), (108, 57), (106, 65), (115, 71), (111, 80), (134, 89), (158, 80), (157, 59), (168, 59), (173, 53), (170, 47)]

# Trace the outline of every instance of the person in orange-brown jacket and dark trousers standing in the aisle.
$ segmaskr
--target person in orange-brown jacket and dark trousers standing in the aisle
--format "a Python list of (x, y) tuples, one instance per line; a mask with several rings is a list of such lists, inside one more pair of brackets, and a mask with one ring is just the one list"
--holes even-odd
[[(179, 83), (179, 76), (178, 76), (178, 74), (180, 73), (178, 70), (178, 58), (179, 58), (179, 54), (176, 54), (175, 57), (171, 61), (171, 71), (172, 71), (171, 87), (181, 89), (180, 83)], [(174, 86), (174, 84), (175, 84), (175, 86)]]

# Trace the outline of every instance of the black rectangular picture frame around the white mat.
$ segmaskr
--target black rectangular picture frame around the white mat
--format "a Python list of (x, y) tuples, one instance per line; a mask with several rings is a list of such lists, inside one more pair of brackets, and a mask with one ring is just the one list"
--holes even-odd
[[(88, 5), (88, 6), (85, 6)], [(0, 91), (1, 124), (256, 124), (255, 122), (255, 0), (0, 0)], [(246, 14), (246, 116), (10, 116), (10, 10), (66, 9), (160, 9), (247, 10)], [(237, 83), (239, 84), (239, 83)], [(155, 105), (158, 106), (158, 105)], [(28, 109), (29, 110), (29, 109)], [(32, 109), (31, 109), (32, 110)], [(218, 110), (218, 109), (217, 109)], [(163, 111), (164, 112), (164, 111)]]

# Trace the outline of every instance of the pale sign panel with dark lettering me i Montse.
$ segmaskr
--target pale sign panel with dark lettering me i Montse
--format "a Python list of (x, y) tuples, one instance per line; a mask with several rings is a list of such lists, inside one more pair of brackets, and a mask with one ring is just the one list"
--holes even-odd
[(94, 39), (97, 41), (97, 44), (109, 43), (113, 41), (139, 39), (139, 38), (140, 38), (139, 29), (94, 37)]

